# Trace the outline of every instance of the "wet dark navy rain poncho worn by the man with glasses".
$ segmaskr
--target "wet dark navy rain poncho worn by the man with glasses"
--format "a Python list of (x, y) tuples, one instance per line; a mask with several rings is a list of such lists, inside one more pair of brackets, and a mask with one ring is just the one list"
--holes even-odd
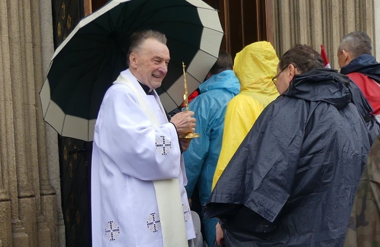
[(343, 246), (369, 151), (349, 84), (314, 69), (263, 110), (205, 207), (225, 246)]

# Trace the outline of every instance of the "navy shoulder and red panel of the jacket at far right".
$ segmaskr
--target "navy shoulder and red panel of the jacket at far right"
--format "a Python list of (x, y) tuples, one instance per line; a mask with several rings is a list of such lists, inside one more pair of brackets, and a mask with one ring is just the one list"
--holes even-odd
[(360, 55), (341, 68), (340, 73), (349, 76), (360, 88), (380, 121), (380, 64), (376, 59), (368, 54)]

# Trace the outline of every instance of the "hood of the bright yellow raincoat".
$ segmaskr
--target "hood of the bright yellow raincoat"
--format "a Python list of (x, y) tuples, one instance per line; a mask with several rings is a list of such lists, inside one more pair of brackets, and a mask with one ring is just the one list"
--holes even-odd
[(278, 94), (272, 78), (277, 73), (279, 60), (271, 43), (261, 41), (246, 46), (236, 54), (234, 71), (240, 81), (240, 91), (257, 94)]

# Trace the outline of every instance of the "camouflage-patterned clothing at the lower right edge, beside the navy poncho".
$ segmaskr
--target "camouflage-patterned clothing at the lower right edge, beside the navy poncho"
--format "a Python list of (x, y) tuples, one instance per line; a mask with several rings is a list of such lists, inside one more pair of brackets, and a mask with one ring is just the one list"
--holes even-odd
[(345, 241), (345, 247), (372, 246), (380, 246), (380, 136), (369, 152)]

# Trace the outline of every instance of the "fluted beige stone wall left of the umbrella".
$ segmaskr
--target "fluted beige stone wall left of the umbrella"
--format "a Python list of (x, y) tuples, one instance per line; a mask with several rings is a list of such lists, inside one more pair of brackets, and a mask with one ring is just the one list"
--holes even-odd
[[(51, 7), (43, 10), (49, 3), (0, 1), (0, 246), (60, 242), (56, 193), (60, 189), (59, 184), (52, 186), (48, 169), (49, 162), (55, 162), (59, 172), (58, 159), (49, 160), (39, 99), (43, 65), (49, 64), (43, 60), (43, 43), (52, 46), (52, 39), (43, 40), (41, 28), (42, 16), (52, 18)], [(52, 32), (46, 21), (44, 32)]]

